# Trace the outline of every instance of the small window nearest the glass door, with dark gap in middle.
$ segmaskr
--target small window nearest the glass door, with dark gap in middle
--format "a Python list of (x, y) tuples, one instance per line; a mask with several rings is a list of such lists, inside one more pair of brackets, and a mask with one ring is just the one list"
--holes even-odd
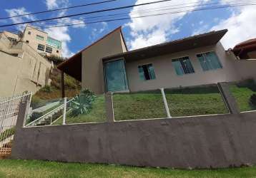
[(139, 69), (139, 78), (141, 80), (152, 80), (155, 79), (156, 76), (154, 75), (154, 67), (152, 63), (138, 66)]

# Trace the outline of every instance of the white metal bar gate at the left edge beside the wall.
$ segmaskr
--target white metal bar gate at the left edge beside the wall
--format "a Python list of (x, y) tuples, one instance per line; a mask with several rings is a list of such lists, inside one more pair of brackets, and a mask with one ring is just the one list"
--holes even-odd
[(11, 155), (16, 121), (21, 102), (31, 101), (31, 93), (8, 98), (0, 102), (0, 158)]

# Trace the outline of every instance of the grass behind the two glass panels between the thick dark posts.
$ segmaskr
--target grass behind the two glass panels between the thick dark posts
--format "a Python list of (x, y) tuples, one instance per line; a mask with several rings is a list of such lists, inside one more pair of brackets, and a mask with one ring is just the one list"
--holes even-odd
[[(227, 113), (217, 86), (166, 90), (172, 117)], [(116, 120), (167, 117), (161, 93), (129, 93), (114, 95)]]

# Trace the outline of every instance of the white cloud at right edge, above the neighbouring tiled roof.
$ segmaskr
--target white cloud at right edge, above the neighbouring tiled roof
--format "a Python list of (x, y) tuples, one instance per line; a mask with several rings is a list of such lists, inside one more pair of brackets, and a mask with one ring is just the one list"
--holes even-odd
[(256, 38), (255, 19), (255, 6), (243, 6), (232, 11), (230, 18), (220, 21), (211, 30), (227, 28), (222, 44), (226, 49), (233, 48), (237, 43)]

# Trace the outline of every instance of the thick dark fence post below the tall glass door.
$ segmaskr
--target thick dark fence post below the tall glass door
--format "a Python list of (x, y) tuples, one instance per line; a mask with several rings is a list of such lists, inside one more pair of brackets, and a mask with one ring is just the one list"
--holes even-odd
[(105, 105), (107, 122), (114, 122), (114, 107), (113, 107), (113, 95), (112, 93), (105, 93)]

